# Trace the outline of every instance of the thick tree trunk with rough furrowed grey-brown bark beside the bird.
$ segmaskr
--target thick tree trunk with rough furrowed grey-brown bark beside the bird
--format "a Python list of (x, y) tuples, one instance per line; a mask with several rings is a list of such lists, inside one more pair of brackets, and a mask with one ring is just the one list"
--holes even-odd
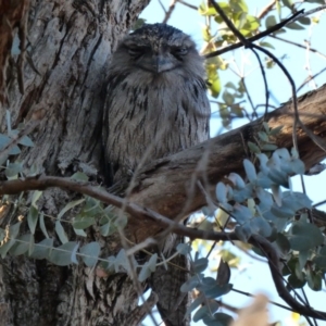
[[(110, 54), (148, 2), (0, 0), (1, 133), (5, 110), (12, 128), (38, 123), (29, 135), (36, 146), (22, 154), (26, 171), (35, 165), (47, 175), (100, 175), (101, 90)], [(15, 40), (23, 51), (14, 54), (13, 48), (11, 57)], [(55, 216), (74, 196), (46, 191), (39, 208)], [(143, 315), (138, 308), (133, 318), (138, 296), (122, 273), (100, 278), (82, 265), (8, 256), (0, 286), (1, 325), (137, 325)]]

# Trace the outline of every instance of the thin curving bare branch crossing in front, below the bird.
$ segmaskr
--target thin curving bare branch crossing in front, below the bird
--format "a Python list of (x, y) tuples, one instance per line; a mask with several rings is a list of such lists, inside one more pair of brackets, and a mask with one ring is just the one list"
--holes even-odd
[[(113, 204), (117, 208), (125, 208), (125, 211), (129, 213), (133, 218), (130, 223), (133, 224), (134, 220), (137, 218), (145, 218), (147, 221), (154, 220), (158, 224), (162, 227), (168, 227), (174, 233), (187, 236), (190, 239), (206, 239), (213, 241), (228, 241), (228, 240), (239, 240), (235, 233), (226, 234), (226, 233), (215, 233), (215, 231), (206, 231), (206, 230), (199, 230), (186, 227), (181, 224), (178, 224), (170, 218), (152, 211), (147, 208), (141, 208), (136, 203), (125, 203), (124, 199), (118, 198), (114, 195), (108, 193), (97, 187), (92, 187), (87, 183), (78, 183), (67, 178), (60, 178), (60, 177), (47, 177), (47, 176), (37, 176), (37, 177), (28, 177), (24, 180), (9, 180), (0, 183), (0, 195), (14, 195), (21, 191), (27, 190), (45, 190), (50, 187), (59, 187), (64, 190), (72, 190), (75, 192), (80, 192), (84, 195), (91, 196), (96, 199), (99, 199), (108, 204)], [(256, 248), (261, 249), (266, 258), (268, 259), (268, 265), (272, 273), (272, 277), (278, 294), (291, 306), (296, 312), (311, 316), (314, 318), (322, 318), (326, 319), (326, 313), (315, 311), (310, 306), (304, 306), (300, 304), (289, 293), (287, 288), (284, 285), (281, 273), (279, 271), (279, 256), (273, 244), (265, 238), (261, 236), (252, 236), (249, 243), (255, 246)]]

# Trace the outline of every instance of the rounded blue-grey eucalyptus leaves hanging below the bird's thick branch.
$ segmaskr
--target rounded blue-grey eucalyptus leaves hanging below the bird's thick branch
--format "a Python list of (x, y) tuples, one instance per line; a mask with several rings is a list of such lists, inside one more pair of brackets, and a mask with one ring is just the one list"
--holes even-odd
[[(260, 133), (259, 145), (249, 145), (253, 152), (253, 162), (260, 164), (258, 166), (248, 159), (243, 161), (246, 179), (231, 173), (227, 184), (216, 185), (218, 208), (229, 215), (224, 228), (233, 222), (235, 233), (243, 242), (247, 242), (253, 235), (268, 238), (285, 260), (284, 275), (288, 276), (289, 287), (303, 287), (308, 283), (312, 289), (319, 290), (322, 277), (326, 271), (324, 236), (316, 226), (308, 222), (305, 213), (297, 214), (298, 211), (311, 208), (311, 201), (305, 193), (290, 189), (290, 176), (304, 172), (302, 161), (293, 150), (290, 154), (286, 149), (274, 150), (272, 147), (266, 147), (268, 143), (273, 145), (269, 138), (277, 131), (279, 128), (273, 130), (265, 125), (265, 131)], [(269, 151), (265, 153), (261, 149)], [(78, 173), (72, 178), (85, 180), (87, 176)], [(284, 191), (284, 188), (289, 190)], [(33, 259), (47, 259), (60, 266), (84, 262), (89, 267), (95, 267), (101, 261), (99, 267), (106, 269), (108, 273), (124, 271), (133, 276), (134, 271), (138, 271), (139, 281), (145, 281), (155, 272), (158, 264), (167, 264), (168, 268), (168, 262), (173, 256), (165, 260), (155, 253), (141, 265), (134, 255), (127, 254), (122, 249), (116, 256), (100, 259), (101, 244), (98, 241), (80, 246), (80, 241), (71, 240), (63, 222), (72, 225), (76, 234), (73, 238), (85, 237), (89, 227), (98, 228), (105, 237), (126, 224), (126, 220), (114, 213), (111, 206), (104, 208), (100, 201), (90, 197), (71, 201), (60, 211), (55, 217), (54, 234), (52, 234), (57, 235), (62, 244), (54, 246), (55, 237), (49, 237), (43, 221), (45, 214), (38, 211), (37, 201), (41, 195), (41, 191), (34, 191), (32, 196), (26, 218), (29, 231), (20, 233), (24, 218), (7, 229), (0, 229), (2, 258), (5, 258), (8, 253), (25, 254)], [(64, 221), (64, 215), (73, 210), (76, 210), (73, 221)], [(45, 239), (36, 243), (37, 225)], [(211, 228), (214, 228), (213, 224)], [(196, 292), (196, 299), (187, 313), (193, 313), (197, 310), (193, 314), (193, 322), (203, 321), (205, 325), (228, 325), (231, 316), (217, 312), (220, 304), (216, 301), (233, 289), (233, 285), (229, 284), (228, 264), (222, 261), (217, 277), (213, 278), (204, 274), (209, 264), (208, 258), (200, 258), (198, 252), (193, 256), (190, 254), (191, 243), (179, 244), (177, 250), (178, 253), (188, 255), (191, 260), (190, 277), (180, 288), (183, 292)], [(259, 249), (255, 250), (264, 254)]]

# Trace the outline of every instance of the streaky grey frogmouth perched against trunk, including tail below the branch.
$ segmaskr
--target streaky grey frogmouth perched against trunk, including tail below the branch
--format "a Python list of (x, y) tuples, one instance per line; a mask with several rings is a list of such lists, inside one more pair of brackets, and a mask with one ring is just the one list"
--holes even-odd
[[(189, 35), (160, 23), (128, 34), (109, 66), (102, 131), (108, 183), (114, 185), (149, 162), (206, 140), (210, 114), (203, 59)], [(171, 236), (164, 254), (175, 252), (179, 241), (179, 236)], [(175, 277), (177, 272), (158, 268), (151, 278), (168, 326), (188, 325), (188, 298), (178, 297), (180, 284), (177, 289), (172, 284), (185, 281), (186, 275)]]

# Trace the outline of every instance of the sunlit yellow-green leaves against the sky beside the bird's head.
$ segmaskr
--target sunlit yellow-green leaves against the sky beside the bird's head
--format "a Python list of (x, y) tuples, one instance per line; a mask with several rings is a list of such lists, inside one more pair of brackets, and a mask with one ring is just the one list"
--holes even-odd
[[(308, 2), (318, 4), (324, 3), (323, 1), (318, 0)], [(300, 3), (294, 1), (275, 1), (275, 8), (271, 8), (266, 12), (263, 11), (262, 13), (255, 14), (250, 13), (248, 3), (243, 0), (216, 1), (216, 3), (220, 4), (224, 13), (238, 29), (238, 32), (249, 40), (251, 38), (256, 38), (256, 36), (263, 32), (267, 32), (268, 29), (273, 29), (269, 35), (278, 36), (279, 34), (286, 34), (288, 30), (304, 30), (311, 26), (312, 22), (317, 23), (317, 20), (315, 18), (312, 20), (309, 16), (299, 16), (294, 22), (290, 22), (284, 27), (274, 30), (275, 25), (281, 23), (287, 13), (290, 12), (291, 14), (296, 14), (298, 12)], [(238, 78), (238, 82), (235, 83), (228, 80), (222, 87), (221, 74), (230, 70), (230, 63), (236, 61), (235, 55), (226, 60), (221, 55), (211, 57), (210, 54), (215, 51), (218, 53), (224, 53), (230, 46), (239, 43), (240, 41), (237, 36), (234, 35), (234, 33), (227, 27), (226, 23), (216, 12), (210, 1), (202, 1), (198, 8), (198, 12), (201, 16), (205, 17), (206, 22), (202, 27), (202, 39), (205, 42), (202, 54), (209, 58), (205, 62), (209, 90), (212, 97), (218, 98), (216, 104), (222, 118), (222, 124), (224, 127), (229, 128), (234, 118), (241, 118), (246, 115), (243, 102), (246, 99), (251, 101), (251, 95), (246, 87), (243, 72), (237, 73), (236, 78)], [(213, 24), (213, 22), (215, 24)], [(265, 49), (275, 49), (273, 43), (266, 41), (264, 38), (259, 39), (258, 45)], [(225, 51), (223, 51), (223, 49), (225, 49)], [(265, 68), (275, 67), (275, 61), (273, 59), (265, 58), (264, 62)], [(248, 65), (248, 62), (241, 63), (241, 71), (246, 65)], [(261, 68), (263, 67), (261, 66)], [(264, 74), (264, 72), (262, 73)], [(258, 108), (252, 109), (254, 110), (252, 117), (258, 116), (258, 113), (255, 113)], [(266, 108), (266, 110), (268, 109), (269, 108)], [(249, 117), (249, 115), (247, 116)]]

